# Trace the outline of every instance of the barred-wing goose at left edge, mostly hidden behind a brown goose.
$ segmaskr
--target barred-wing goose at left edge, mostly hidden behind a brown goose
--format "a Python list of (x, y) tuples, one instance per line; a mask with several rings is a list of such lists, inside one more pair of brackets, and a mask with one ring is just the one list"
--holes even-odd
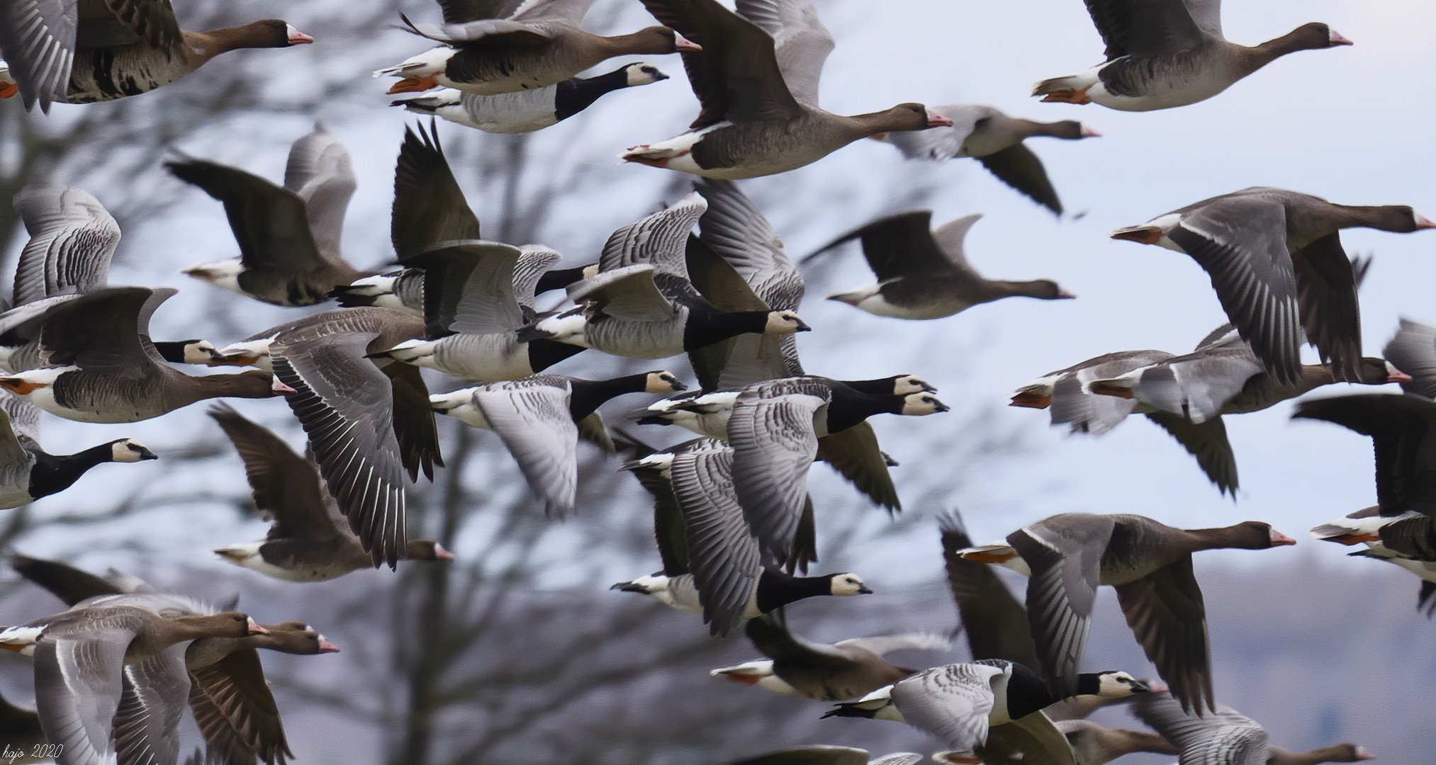
[[(75, 187), (26, 187), (14, 210), (30, 234), (14, 270), (10, 307), (0, 313), (0, 369), (24, 372), (40, 366), (45, 313), (76, 296), (103, 288), (119, 245), (119, 224), (105, 205)], [(208, 363), (208, 340), (154, 343), (167, 362)]]

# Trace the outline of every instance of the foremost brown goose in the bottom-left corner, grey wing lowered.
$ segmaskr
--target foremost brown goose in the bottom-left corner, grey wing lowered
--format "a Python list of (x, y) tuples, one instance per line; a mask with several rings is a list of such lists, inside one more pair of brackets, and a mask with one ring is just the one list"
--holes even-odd
[[(190, 642), (266, 632), (236, 611), (164, 617), (141, 606), (99, 601), (6, 627), (0, 630), (0, 649), (34, 656), (36, 712), (46, 739), (62, 745), (69, 762), (105, 762), (115, 756), (116, 743), (125, 743), (112, 742), (111, 728), (121, 710), (123, 679), (132, 670), (151, 663), (174, 672), (178, 662), (182, 675)], [(165, 715), (139, 725), (165, 725), (174, 703), (161, 702), (168, 708)], [(177, 738), (159, 739), (178, 746)]]

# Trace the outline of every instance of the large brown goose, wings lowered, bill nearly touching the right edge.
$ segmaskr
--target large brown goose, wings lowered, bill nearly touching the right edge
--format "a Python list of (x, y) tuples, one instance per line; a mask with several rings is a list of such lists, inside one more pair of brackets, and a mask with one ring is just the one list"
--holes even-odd
[(1343, 228), (1406, 234), (1436, 228), (1410, 207), (1351, 207), (1281, 188), (1212, 197), (1111, 238), (1186, 253), (1208, 273), (1222, 309), (1279, 383), (1301, 376), (1302, 342), (1335, 376), (1356, 380), (1361, 317)]

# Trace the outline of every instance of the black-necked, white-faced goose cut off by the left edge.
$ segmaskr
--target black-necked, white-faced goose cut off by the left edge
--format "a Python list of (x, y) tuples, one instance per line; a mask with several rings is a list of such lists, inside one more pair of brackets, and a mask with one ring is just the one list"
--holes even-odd
[(40, 410), (17, 396), (0, 399), (0, 508), (14, 508), (70, 488), (101, 462), (158, 459), (144, 443), (121, 438), (69, 455), (40, 448)]

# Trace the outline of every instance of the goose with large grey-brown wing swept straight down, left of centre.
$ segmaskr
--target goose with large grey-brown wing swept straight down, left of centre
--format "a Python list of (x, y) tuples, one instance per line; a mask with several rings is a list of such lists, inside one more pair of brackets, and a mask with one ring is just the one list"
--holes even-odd
[(373, 564), (408, 551), (404, 474), (444, 465), (419, 367), (370, 355), (422, 336), (424, 322), (393, 309), (339, 309), (260, 333), (274, 379), (319, 464), (319, 475)]

